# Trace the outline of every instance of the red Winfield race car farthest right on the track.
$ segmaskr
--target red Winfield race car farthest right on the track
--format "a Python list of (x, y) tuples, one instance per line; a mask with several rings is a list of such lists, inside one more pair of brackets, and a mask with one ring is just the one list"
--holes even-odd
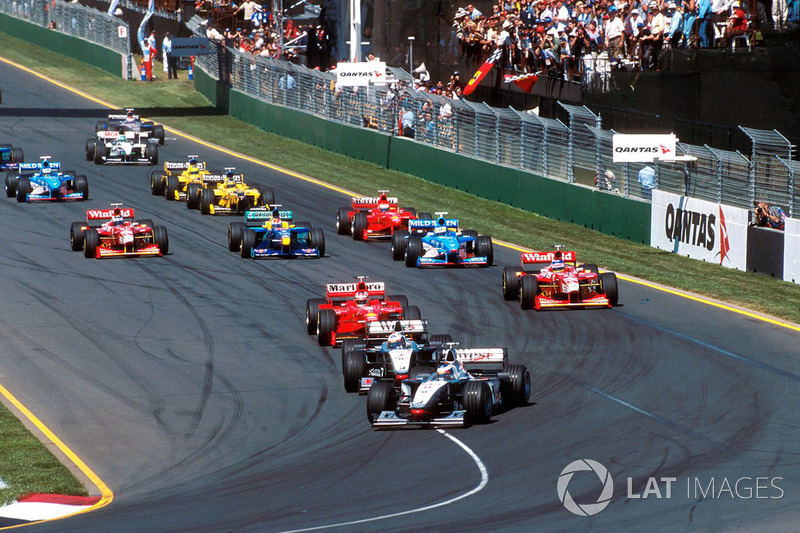
[[(575, 252), (522, 252), (522, 267), (503, 269), (503, 297), (523, 309), (612, 307), (617, 305), (617, 275), (597, 265), (578, 266)], [(528, 267), (529, 270), (524, 270)]]

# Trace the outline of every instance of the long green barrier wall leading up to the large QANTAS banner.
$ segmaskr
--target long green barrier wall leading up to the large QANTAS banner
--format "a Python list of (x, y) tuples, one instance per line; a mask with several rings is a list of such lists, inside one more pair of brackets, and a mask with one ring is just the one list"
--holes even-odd
[[(195, 69), (195, 87), (218, 109), (217, 82)], [(284, 137), (370, 161), (481, 198), (644, 244), (650, 243), (650, 204), (440, 150), (402, 137), (328, 122), (314, 115), (230, 91), (230, 114)]]

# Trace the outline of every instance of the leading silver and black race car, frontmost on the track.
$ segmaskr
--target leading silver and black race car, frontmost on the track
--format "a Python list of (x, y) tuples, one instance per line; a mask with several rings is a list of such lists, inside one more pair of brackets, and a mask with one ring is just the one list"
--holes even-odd
[(530, 393), (528, 369), (508, 365), (505, 348), (450, 348), (430, 376), (403, 380), (399, 395), (391, 383), (375, 383), (367, 419), (374, 427), (480, 424), (499, 409), (527, 404)]

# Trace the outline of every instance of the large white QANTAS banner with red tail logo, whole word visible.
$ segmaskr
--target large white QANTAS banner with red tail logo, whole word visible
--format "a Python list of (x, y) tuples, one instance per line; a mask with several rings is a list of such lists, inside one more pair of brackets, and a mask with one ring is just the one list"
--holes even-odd
[(746, 209), (654, 190), (650, 246), (745, 270), (747, 222)]

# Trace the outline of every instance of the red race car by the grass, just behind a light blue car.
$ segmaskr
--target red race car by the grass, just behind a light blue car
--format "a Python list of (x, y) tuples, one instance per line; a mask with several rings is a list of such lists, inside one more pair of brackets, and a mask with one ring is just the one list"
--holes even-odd
[[(397, 198), (387, 196), (389, 191), (378, 191), (380, 196), (353, 197), (352, 207), (340, 207), (336, 214), (339, 235), (353, 235), (353, 240), (391, 237), (396, 229), (408, 229), (408, 221), (417, 218), (413, 207), (398, 207)], [(420, 213), (419, 218), (430, 219), (430, 213)]]

